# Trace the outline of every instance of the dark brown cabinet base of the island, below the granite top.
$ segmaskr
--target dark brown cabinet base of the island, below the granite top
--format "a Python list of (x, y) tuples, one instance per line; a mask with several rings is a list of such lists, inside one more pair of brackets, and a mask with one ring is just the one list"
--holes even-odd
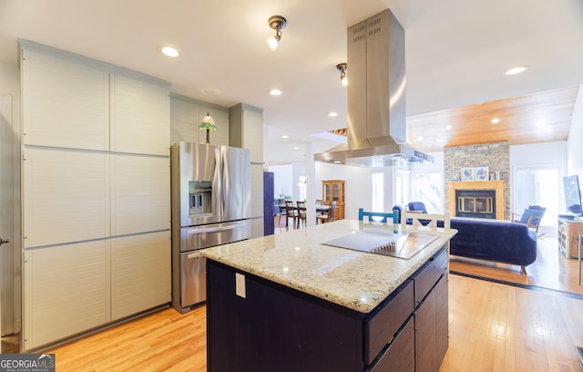
[(207, 260), (208, 370), (436, 371), (447, 349), (446, 261), (442, 248), (362, 314)]

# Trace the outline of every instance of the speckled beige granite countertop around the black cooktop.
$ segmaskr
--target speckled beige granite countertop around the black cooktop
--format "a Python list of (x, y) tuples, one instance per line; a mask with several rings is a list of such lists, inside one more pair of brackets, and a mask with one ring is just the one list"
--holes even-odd
[(394, 230), (393, 226), (340, 220), (219, 245), (200, 253), (210, 260), (366, 314), (456, 233), (455, 230), (437, 233), (433, 243), (409, 259), (322, 244), (370, 227)]

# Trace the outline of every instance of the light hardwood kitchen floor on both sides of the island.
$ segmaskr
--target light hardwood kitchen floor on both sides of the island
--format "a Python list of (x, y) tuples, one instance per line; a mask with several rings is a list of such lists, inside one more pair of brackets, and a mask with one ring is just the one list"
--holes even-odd
[[(583, 301), (454, 274), (449, 295), (441, 371), (583, 371)], [(59, 372), (205, 371), (205, 325), (169, 308), (46, 352)]]

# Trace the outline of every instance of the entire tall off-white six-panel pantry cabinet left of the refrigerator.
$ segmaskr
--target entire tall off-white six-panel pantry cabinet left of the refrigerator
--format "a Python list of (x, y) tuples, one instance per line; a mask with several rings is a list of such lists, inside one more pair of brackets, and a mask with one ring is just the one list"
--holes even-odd
[(170, 301), (169, 83), (20, 40), (25, 351)]

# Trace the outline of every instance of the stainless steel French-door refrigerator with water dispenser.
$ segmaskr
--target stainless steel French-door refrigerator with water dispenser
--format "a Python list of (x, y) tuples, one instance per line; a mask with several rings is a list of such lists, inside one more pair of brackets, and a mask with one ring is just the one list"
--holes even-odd
[(172, 306), (206, 300), (206, 259), (198, 252), (251, 237), (250, 151), (179, 142), (172, 146)]

